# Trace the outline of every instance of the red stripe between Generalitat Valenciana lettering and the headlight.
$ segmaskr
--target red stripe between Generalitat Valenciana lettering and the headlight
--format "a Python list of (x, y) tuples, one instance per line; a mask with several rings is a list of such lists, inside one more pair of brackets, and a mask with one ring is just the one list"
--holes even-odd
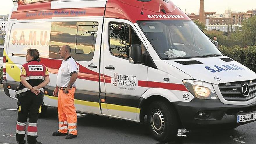
[(138, 81), (138, 86), (148, 87), (148, 88), (163, 88), (168, 90), (179, 90), (188, 92), (187, 88), (183, 84), (175, 83), (160, 83), (153, 81)]

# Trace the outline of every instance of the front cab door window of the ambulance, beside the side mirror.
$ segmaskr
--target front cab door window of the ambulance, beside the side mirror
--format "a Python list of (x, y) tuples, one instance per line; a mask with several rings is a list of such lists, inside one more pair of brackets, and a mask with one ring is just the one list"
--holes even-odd
[(142, 53), (146, 51), (145, 46), (129, 24), (109, 23), (109, 47), (114, 56), (128, 60), (130, 47), (134, 44), (141, 45)]

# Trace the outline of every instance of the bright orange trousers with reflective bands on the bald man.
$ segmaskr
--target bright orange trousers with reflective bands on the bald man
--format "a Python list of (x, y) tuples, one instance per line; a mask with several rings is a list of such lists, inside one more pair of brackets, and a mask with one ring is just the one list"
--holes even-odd
[(76, 88), (65, 94), (62, 89), (58, 92), (59, 132), (77, 135), (77, 113), (74, 106)]

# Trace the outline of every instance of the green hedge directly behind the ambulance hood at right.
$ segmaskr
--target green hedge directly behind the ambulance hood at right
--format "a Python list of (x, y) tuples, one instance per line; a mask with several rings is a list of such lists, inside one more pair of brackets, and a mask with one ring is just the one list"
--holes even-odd
[(235, 61), (238, 61), (239, 63), (256, 72), (256, 46), (248, 46), (245, 48), (239, 46), (220, 46), (220, 50), (226, 56), (234, 59)]

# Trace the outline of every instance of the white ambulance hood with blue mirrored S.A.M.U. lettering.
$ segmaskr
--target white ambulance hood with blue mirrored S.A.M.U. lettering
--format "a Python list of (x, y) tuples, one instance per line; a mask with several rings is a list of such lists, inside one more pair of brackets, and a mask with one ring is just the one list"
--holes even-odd
[(193, 79), (213, 84), (256, 79), (255, 72), (227, 56), (164, 61)]

